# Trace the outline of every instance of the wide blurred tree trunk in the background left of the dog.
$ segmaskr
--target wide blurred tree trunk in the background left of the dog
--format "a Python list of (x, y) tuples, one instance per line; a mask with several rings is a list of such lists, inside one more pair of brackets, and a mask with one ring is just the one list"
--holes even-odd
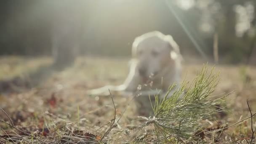
[(54, 66), (63, 68), (74, 63), (82, 41), (83, 22), (79, 11), (81, 7), (69, 0), (53, 4), (55, 5), (54, 20), (51, 23), (52, 54)]

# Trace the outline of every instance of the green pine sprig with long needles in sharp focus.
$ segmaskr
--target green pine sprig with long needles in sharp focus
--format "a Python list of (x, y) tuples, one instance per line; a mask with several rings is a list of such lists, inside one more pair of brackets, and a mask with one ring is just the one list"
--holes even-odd
[(158, 96), (155, 96), (155, 116), (151, 122), (154, 122), (155, 134), (159, 139), (162, 137), (167, 140), (170, 136), (188, 139), (192, 132), (206, 125), (201, 124), (201, 120), (216, 113), (216, 104), (223, 103), (226, 96), (215, 100), (209, 99), (219, 83), (219, 73), (213, 74), (213, 70), (214, 67), (208, 72), (205, 65), (197, 73), (185, 94), (185, 88), (189, 84), (187, 81), (176, 88), (170, 97), (168, 95), (176, 85), (170, 86), (163, 100), (160, 101)]

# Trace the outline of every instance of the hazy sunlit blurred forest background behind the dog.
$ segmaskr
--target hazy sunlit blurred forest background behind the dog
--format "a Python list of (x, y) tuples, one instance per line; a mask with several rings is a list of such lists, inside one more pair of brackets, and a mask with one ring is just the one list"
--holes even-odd
[[(244, 62), (256, 52), (255, 0), (169, 1), (209, 59), (216, 32), (222, 61)], [(152, 30), (171, 34), (183, 55), (199, 55), (165, 0), (5, 0), (0, 20), (1, 55), (49, 55), (66, 31), (63, 43), (77, 43), (79, 54), (130, 56), (134, 38)]]

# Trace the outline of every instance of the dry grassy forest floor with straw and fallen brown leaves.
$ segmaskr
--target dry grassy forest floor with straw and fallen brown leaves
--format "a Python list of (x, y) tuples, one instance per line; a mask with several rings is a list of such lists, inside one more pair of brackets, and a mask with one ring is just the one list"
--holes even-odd
[[(74, 66), (62, 71), (52, 69), (51, 64), (52, 60), (47, 57), (0, 58), (0, 108), (15, 125), (15, 128), (6, 125), (3, 121), (9, 123), (10, 120), (3, 111), (0, 112), (0, 120), (3, 120), (0, 122), (0, 143), (20, 142), (21, 139), (24, 139), (23, 143), (40, 140), (75, 143), (85, 137), (99, 141), (106, 133), (115, 115), (112, 99), (110, 96), (88, 96), (86, 90), (121, 84), (128, 74), (128, 59), (80, 57)], [(183, 79), (193, 80), (202, 67), (202, 62), (192, 64), (185, 61)], [(208, 67), (213, 67), (213, 64), (208, 64)], [(256, 67), (223, 64), (215, 67), (214, 72), (220, 72), (220, 81), (213, 94), (234, 93), (221, 106), (227, 112), (217, 115), (219, 124), (210, 122), (212, 129), (249, 117), (247, 100), (252, 113), (256, 111)], [(112, 143), (120, 143), (136, 139), (140, 133), (129, 129), (140, 123), (136, 105), (131, 98), (116, 93), (113, 93), (113, 101), (117, 119), (121, 119), (103, 141), (115, 138)], [(256, 120), (253, 120), (254, 131), (255, 128)], [(131, 131), (129, 136), (118, 133), (126, 129)], [(232, 138), (234, 143), (251, 141), (251, 119), (225, 129), (223, 135), (219, 136), (222, 141), (225, 141), (225, 136)]]

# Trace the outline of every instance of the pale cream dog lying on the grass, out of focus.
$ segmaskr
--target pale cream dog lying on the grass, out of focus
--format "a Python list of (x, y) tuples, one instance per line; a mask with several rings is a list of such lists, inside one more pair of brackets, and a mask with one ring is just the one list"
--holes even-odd
[(170, 85), (180, 83), (181, 61), (179, 46), (171, 35), (159, 31), (145, 33), (132, 44), (130, 72), (124, 83), (89, 90), (88, 94), (109, 95), (110, 90), (120, 91), (123, 96), (160, 94), (163, 98)]

